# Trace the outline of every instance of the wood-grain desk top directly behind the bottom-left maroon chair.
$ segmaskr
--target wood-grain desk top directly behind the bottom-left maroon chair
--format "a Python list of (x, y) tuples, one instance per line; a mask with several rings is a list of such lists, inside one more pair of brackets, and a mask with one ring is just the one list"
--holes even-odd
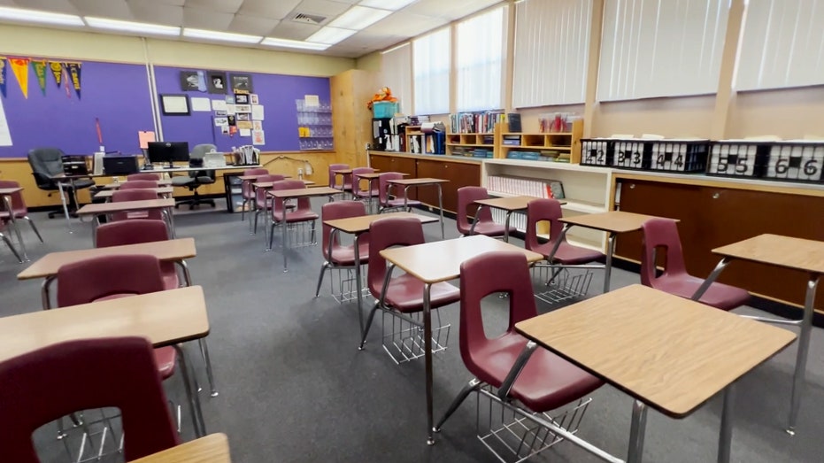
[(208, 334), (203, 288), (188, 286), (0, 318), (0, 361), (75, 339), (142, 336), (162, 347)]

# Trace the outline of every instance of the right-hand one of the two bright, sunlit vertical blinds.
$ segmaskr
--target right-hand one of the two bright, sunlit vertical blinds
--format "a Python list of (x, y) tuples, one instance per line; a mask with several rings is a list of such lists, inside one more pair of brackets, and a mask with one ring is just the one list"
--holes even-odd
[(456, 27), (458, 111), (500, 109), (504, 86), (505, 7), (466, 19)]

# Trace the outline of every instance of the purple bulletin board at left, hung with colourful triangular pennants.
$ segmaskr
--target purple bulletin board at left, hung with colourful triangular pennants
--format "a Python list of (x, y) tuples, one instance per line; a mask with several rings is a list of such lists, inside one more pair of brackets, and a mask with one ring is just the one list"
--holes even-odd
[(80, 65), (80, 89), (75, 89), (66, 69), (58, 85), (46, 60), (43, 88), (34, 66), (18, 77), (22, 67), (16, 73), (4, 60), (5, 96), (0, 99), (12, 145), (0, 146), (0, 158), (25, 158), (28, 150), (47, 146), (66, 154), (89, 155), (101, 144), (107, 151), (139, 152), (137, 132), (154, 130), (146, 66), (70, 61)]

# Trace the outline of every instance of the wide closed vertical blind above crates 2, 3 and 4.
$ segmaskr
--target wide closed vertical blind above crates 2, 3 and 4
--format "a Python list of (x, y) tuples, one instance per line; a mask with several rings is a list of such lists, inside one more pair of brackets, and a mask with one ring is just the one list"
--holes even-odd
[(729, 0), (605, 2), (598, 99), (715, 93)]

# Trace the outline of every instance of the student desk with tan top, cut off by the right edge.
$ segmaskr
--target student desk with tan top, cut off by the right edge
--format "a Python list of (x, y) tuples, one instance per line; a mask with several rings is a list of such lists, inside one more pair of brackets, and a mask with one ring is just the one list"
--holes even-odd
[(793, 436), (796, 434), (798, 408), (801, 406), (802, 389), (804, 388), (807, 368), (807, 353), (810, 350), (812, 314), (815, 312), (813, 307), (815, 289), (818, 287), (821, 274), (824, 274), (824, 242), (781, 235), (758, 235), (738, 243), (721, 246), (720, 248), (713, 249), (712, 252), (722, 256), (722, 259), (712, 270), (710, 276), (708, 276), (705, 282), (697, 289), (692, 297), (693, 300), (698, 300), (703, 296), (706, 289), (718, 278), (721, 271), (736, 259), (758, 262), (768, 266), (780, 266), (800, 270), (809, 275), (805, 295), (804, 315), (801, 320), (774, 320), (751, 317), (756, 320), (801, 327), (801, 335), (798, 338), (796, 371), (792, 379), (789, 425), (787, 427), (787, 432)]

